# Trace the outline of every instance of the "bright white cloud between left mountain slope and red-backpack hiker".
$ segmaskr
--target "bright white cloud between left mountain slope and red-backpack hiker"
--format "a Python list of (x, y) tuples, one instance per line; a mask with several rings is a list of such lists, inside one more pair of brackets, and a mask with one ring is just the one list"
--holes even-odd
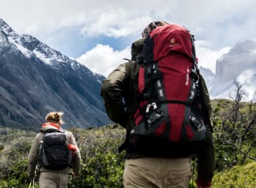
[(108, 45), (97, 44), (83, 54), (77, 61), (86, 65), (90, 70), (107, 77), (119, 64), (125, 62), (123, 58), (131, 57), (131, 48), (127, 47), (122, 51), (117, 51)]

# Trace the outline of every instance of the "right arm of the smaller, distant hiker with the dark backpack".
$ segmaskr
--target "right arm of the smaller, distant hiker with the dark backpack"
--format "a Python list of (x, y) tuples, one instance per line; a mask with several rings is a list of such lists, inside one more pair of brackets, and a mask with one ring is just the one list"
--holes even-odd
[(75, 138), (71, 132), (70, 132), (70, 139), (71, 139), (70, 144), (75, 145), (72, 170), (73, 170), (75, 177), (77, 177), (80, 174), (80, 169), (81, 169), (81, 154), (80, 154), (80, 150), (77, 147), (77, 144), (75, 142)]

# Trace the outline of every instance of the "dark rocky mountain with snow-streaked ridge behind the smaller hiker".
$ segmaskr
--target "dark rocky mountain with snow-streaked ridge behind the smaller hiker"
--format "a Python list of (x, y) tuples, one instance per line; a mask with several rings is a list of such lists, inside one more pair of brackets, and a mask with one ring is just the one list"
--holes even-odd
[(0, 19), (0, 126), (36, 128), (49, 111), (63, 111), (67, 127), (104, 125), (103, 79)]

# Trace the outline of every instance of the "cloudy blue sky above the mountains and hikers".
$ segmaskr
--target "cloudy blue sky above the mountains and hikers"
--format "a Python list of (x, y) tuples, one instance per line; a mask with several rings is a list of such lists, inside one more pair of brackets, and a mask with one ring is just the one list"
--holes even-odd
[(216, 59), (236, 42), (256, 40), (254, 0), (0, 0), (0, 5), (0, 17), (13, 30), (105, 76), (130, 58), (131, 43), (150, 21), (191, 30), (199, 65), (213, 72)]

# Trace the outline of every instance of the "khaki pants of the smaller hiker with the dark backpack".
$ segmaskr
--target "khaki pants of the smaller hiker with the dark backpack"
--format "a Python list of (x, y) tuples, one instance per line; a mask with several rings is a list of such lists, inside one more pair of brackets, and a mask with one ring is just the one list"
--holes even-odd
[(66, 188), (69, 180), (68, 174), (41, 172), (39, 177), (40, 188)]

